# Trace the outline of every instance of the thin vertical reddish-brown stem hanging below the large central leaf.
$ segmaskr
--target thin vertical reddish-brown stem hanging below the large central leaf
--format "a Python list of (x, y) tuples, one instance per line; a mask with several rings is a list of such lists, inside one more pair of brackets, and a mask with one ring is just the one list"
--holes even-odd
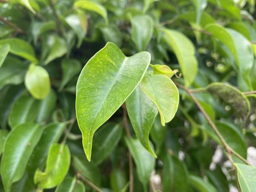
[[(126, 105), (123, 104), (122, 108), (123, 108), (123, 123), (125, 125), (126, 135), (129, 138), (129, 137), (131, 137), (131, 134), (130, 134), (130, 131), (129, 131)], [(133, 163), (132, 163), (132, 157), (131, 157), (131, 152), (130, 151), (128, 151), (128, 158), (129, 158), (129, 180), (130, 180), (129, 192), (133, 192), (134, 191)]]

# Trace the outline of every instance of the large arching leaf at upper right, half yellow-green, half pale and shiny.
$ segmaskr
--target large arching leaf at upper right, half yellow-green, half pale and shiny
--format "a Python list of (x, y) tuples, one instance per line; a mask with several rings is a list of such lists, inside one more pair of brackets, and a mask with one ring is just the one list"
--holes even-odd
[(216, 24), (209, 24), (205, 27), (208, 32), (211, 32), (218, 40), (221, 41), (231, 52), (236, 60), (236, 64), (241, 70), (244, 80), (248, 85), (248, 73), (253, 66), (253, 49), (250, 41), (248, 41), (239, 32), (218, 26)]

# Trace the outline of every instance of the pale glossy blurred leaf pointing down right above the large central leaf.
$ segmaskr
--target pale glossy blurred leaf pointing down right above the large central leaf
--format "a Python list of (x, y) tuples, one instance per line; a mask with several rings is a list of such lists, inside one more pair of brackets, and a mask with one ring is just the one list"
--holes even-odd
[(137, 51), (145, 51), (153, 35), (153, 21), (148, 15), (131, 18), (131, 39)]

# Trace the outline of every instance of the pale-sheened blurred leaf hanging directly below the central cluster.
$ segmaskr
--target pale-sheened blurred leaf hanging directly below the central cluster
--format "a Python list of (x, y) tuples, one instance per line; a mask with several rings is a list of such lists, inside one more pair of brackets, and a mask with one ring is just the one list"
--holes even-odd
[(125, 143), (135, 161), (139, 180), (145, 189), (155, 166), (155, 158), (141, 145), (139, 140), (125, 137)]

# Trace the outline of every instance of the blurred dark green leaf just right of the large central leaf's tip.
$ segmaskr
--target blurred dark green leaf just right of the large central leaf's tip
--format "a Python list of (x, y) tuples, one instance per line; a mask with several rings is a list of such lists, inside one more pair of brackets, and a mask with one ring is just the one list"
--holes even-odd
[(93, 140), (92, 160), (97, 165), (102, 163), (116, 147), (122, 137), (120, 124), (108, 122), (96, 131)]

